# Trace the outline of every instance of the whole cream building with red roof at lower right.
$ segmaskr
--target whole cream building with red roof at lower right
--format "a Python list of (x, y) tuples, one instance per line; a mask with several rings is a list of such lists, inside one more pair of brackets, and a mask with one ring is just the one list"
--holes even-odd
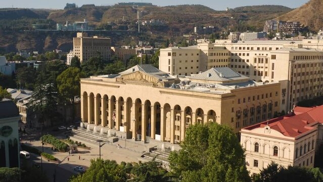
[(317, 144), (323, 141), (323, 106), (296, 107), (293, 113), (241, 129), (250, 174), (271, 161), (282, 166), (313, 167)]

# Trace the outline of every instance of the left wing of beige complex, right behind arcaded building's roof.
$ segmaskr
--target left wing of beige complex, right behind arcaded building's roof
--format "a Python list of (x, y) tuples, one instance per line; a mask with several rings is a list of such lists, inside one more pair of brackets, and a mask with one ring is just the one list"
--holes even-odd
[(214, 47), (212, 43), (160, 50), (159, 69), (172, 75), (190, 76), (210, 68), (228, 67), (229, 64), (228, 50)]

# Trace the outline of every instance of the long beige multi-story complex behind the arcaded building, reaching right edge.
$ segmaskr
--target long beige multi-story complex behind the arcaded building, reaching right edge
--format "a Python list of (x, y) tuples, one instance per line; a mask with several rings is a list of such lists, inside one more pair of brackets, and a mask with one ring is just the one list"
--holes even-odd
[[(206, 56), (207, 54), (202, 51), (201, 47), (198, 44), (195, 47), (184, 49), (162, 49), (159, 58), (160, 69), (165, 72), (170, 70), (168, 73), (178, 73), (177, 70), (179, 70), (179, 67), (181, 69), (195, 68), (192, 70), (192, 74), (194, 72), (205, 71), (203, 69), (205, 65), (210, 64), (210, 56)], [(212, 47), (214, 48), (212, 49)], [(290, 111), (293, 105), (299, 101), (314, 98), (322, 94), (323, 80), (321, 78), (321, 69), (323, 69), (323, 41), (313, 39), (256, 40), (233, 43), (229, 40), (216, 40), (216, 43), (208, 44), (207, 50), (217, 50), (216, 47), (220, 49), (224, 48), (223, 50), (228, 51), (229, 62), (224, 62), (224, 66), (227, 65), (238, 73), (246, 75), (255, 81), (281, 82), (282, 98), (280, 105), (281, 110), (285, 112)], [(186, 49), (195, 55), (192, 57), (192, 63), (196, 59), (199, 61), (199, 66), (191, 66), (192, 63), (189, 61), (183, 62), (182, 58), (174, 56), (176, 54), (178, 55), (180, 51), (185, 52)], [(199, 56), (196, 54), (199, 54)], [(204, 56), (202, 57), (201, 55)], [(219, 62), (215, 62), (215, 64), (219, 64)], [(204, 65), (204, 67), (201, 65)], [(181, 75), (183, 73), (189, 75), (190, 71), (182, 72)]]

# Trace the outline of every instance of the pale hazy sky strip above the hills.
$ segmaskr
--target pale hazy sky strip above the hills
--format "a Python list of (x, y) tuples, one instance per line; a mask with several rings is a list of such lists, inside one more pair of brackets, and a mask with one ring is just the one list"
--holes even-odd
[[(95, 4), (95, 5), (114, 5), (120, 2), (142, 2), (137, 0), (0, 0), (0, 8), (51, 8), (51, 9), (63, 9), (66, 3), (75, 3), (79, 7), (83, 4)], [(226, 7), (236, 8), (241, 6), (250, 5), (283, 5), (290, 8), (298, 8), (308, 2), (308, 0), (230, 0), (230, 1), (218, 1), (218, 0), (143, 0), (146, 3), (153, 3), (157, 6), (169, 6), (169, 5), (192, 5), (201, 4), (210, 7), (214, 10), (225, 10)]]

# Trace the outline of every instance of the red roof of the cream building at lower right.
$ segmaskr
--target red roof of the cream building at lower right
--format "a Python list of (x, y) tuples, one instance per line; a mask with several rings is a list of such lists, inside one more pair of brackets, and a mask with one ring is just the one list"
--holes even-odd
[(292, 114), (273, 118), (243, 129), (263, 128), (268, 124), (271, 129), (279, 131), (285, 136), (296, 137), (301, 133), (314, 129), (314, 127), (308, 126), (314, 122), (323, 123), (323, 105), (314, 108), (296, 107)]

